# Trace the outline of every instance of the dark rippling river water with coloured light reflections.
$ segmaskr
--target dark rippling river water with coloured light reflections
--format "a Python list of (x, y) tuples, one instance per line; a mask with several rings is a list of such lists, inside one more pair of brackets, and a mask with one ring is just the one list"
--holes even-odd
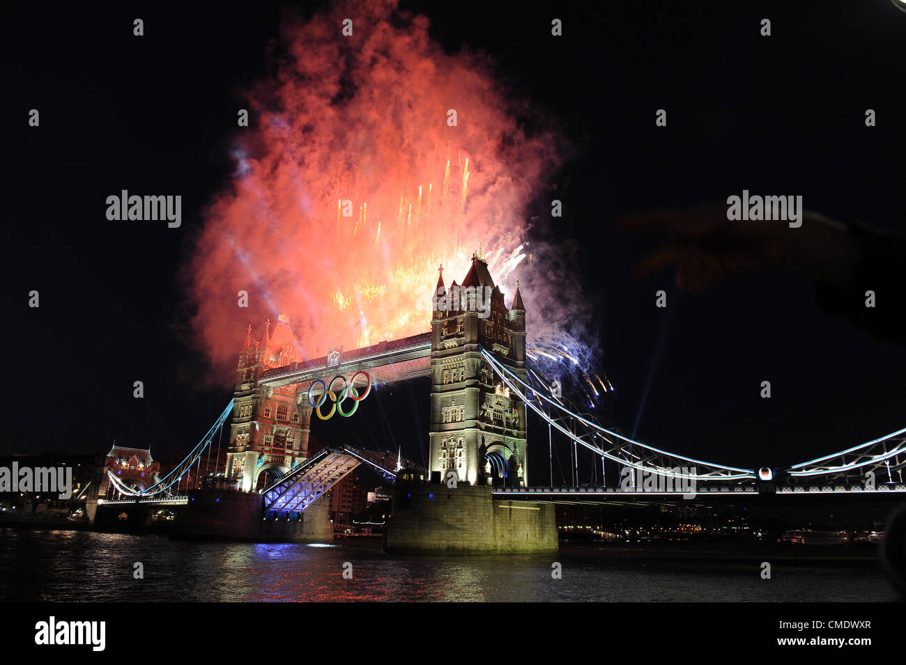
[[(833, 550), (833, 551), (831, 551)], [(761, 579), (760, 562), (772, 564)], [(133, 565), (144, 565), (144, 579)], [(352, 579), (343, 564), (352, 563)], [(551, 576), (552, 563), (562, 579)], [(305, 546), (0, 529), (3, 601), (892, 601), (863, 548), (564, 544), (555, 555), (384, 556)]]

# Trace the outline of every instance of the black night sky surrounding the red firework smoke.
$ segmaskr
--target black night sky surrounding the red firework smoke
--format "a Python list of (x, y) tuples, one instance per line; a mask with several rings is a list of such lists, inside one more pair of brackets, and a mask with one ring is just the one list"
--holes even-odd
[[(769, 271), (684, 295), (670, 273), (631, 276), (659, 240), (614, 224), (619, 214), (723, 201), (747, 188), (803, 195), (806, 207), (847, 223), (904, 230), (906, 13), (890, 0), (572, 5), (404, 4), (429, 16), (449, 51), (468, 44), (491, 55), (506, 85), (571, 139), (551, 182), (564, 217), (539, 232), (579, 248), (585, 292), (577, 297), (593, 310), (600, 363), (617, 389), (602, 416), (631, 431), (651, 373), (640, 437), (755, 467), (906, 425), (906, 348), (825, 317), (804, 276)], [(115, 438), (166, 459), (192, 447), (226, 404), (232, 386), (211, 388), (191, 346), (180, 271), (199, 211), (233, 169), (239, 90), (268, 71), (283, 7), (7, 10), (9, 421), (0, 452), (101, 451)], [(145, 20), (140, 39), (135, 17)], [(554, 17), (564, 22), (556, 40)], [(759, 35), (762, 18), (772, 21), (769, 38)], [(40, 128), (27, 126), (33, 108)], [(667, 128), (654, 126), (660, 108)], [(869, 108), (875, 128), (863, 124)], [(123, 188), (182, 193), (182, 228), (108, 222), (104, 199)], [(526, 216), (549, 211), (551, 191), (539, 192)], [(653, 306), (661, 288), (671, 313), (652, 370), (668, 316)], [(30, 290), (40, 292), (39, 309), (27, 307)], [(132, 397), (135, 380), (145, 383), (143, 400)], [(770, 400), (759, 396), (763, 380)], [(372, 448), (402, 442), (419, 460), (427, 384), (396, 386), (370, 403), (361, 422), (316, 423), (315, 435), (360, 436)], [(533, 477), (546, 466), (545, 438), (541, 428), (529, 432)]]

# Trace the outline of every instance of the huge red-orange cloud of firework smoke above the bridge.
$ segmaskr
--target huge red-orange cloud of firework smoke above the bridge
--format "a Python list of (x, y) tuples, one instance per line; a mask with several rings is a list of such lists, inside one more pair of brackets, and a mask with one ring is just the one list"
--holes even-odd
[(285, 54), (248, 91), (252, 126), (238, 130), (236, 172), (207, 208), (188, 271), (198, 343), (218, 375), (235, 366), (246, 324), (278, 311), (300, 358), (428, 330), (439, 264), (448, 284), (462, 280), (479, 243), (508, 300), (522, 277), (529, 335), (571, 338), (558, 327), (582, 309), (574, 277), (558, 274), (561, 250), (529, 252), (525, 223), (563, 141), (529, 135), (529, 107), (507, 97), (492, 63), (444, 52), (428, 28), (380, 1), (284, 27)]

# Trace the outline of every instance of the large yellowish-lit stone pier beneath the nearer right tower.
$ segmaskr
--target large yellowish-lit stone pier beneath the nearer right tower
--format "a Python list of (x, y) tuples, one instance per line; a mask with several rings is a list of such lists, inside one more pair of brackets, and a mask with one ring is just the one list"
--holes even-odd
[(494, 500), (492, 488), (397, 483), (384, 527), (387, 554), (538, 554), (556, 552), (554, 506)]

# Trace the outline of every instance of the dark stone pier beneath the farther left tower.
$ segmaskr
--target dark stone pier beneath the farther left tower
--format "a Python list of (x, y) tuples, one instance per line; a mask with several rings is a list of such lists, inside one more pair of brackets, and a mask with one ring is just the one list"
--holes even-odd
[(316, 500), (292, 516), (265, 518), (265, 499), (257, 492), (193, 489), (188, 505), (170, 527), (180, 540), (240, 540), (255, 543), (330, 543), (333, 524), (326, 500)]

